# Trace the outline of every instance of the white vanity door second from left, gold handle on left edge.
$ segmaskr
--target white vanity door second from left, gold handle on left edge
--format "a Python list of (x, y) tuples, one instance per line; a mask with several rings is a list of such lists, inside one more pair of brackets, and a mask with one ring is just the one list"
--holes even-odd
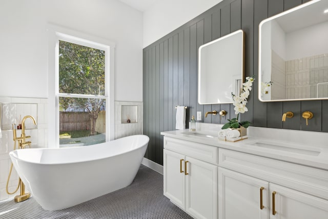
[(217, 218), (217, 166), (186, 156), (186, 211), (195, 218)]

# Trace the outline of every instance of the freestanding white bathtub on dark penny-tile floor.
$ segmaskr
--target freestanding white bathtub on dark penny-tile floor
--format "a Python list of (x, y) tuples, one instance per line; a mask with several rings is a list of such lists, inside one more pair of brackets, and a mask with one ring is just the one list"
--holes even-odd
[(146, 135), (132, 135), (98, 145), (21, 149), (9, 155), (35, 200), (52, 211), (130, 185), (148, 142)]

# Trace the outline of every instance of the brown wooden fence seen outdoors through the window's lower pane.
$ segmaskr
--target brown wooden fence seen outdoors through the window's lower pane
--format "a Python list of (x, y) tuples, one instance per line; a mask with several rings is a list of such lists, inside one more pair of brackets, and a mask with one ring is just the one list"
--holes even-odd
[[(90, 130), (91, 120), (87, 112), (60, 112), (59, 131)], [(99, 133), (106, 131), (106, 112), (101, 111), (96, 121), (95, 130)]]

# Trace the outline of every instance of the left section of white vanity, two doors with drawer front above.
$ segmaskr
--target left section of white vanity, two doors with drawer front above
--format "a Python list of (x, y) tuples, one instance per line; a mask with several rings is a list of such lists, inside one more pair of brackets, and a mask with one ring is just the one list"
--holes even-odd
[[(201, 153), (188, 156), (197, 153), (201, 145), (167, 137), (165, 142), (165, 148), (170, 149), (163, 153), (164, 195), (195, 218), (217, 218), (217, 165), (201, 161)], [(183, 147), (190, 148), (179, 153)], [(214, 152), (216, 160), (214, 149), (208, 154)]]

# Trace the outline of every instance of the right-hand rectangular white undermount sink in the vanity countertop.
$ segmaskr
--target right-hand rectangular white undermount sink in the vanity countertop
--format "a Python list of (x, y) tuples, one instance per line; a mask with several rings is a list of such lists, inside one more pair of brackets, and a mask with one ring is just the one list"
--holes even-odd
[(286, 151), (286, 152), (293, 152), (293, 153), (312, 155), (312, 156), (318, 156), (321, 152), (320, 149), (317, 148), (293, 145), (293, 144), (282, 143), (282, 142), (273, 142), (268, 140), (256, 140), (252, 143), (248, 143), (248, 145), (261, 147), (261, 148), (268, 148), (277, 151)]

